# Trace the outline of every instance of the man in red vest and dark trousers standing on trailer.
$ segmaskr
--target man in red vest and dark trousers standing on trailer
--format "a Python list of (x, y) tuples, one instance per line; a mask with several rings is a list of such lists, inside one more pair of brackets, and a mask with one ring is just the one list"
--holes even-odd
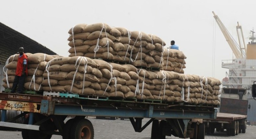
[[(11, 93), (22, 93), (26, 76), (28, 76), (28, 58), (24, 53), (24, 48), (20, 47), (17, 68)], [(17, 86), (18, 89), (16, 92)]]

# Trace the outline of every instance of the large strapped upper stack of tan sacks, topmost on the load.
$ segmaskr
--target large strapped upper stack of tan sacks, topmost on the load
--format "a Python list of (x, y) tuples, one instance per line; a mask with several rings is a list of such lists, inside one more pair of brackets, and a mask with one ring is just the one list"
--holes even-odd
[(69, 57), (85, 56), (120, 62), (134, 66), (163, 67), (161, 62), (165, 42), (155, 35), (110, 27), (104, 23), (79, 24), (69, 30)]

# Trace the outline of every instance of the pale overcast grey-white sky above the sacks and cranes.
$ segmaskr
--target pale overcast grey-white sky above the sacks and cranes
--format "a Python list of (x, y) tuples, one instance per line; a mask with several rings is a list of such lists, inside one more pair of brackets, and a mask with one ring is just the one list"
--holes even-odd
[(237, 42), (237, 22), (246, 42), (256, 27), (254, 0), (5, 0), (0, 4), (0, 22), (61, 56), (69, 55), (67, 32), (71, 27), (106, 23), (157, 35), (166, 47), (175, 40), (187, 57), (185, 74), (219, 80), (227, 71), (221, 68), (222, 60), (232, 59), (233, 54), (212, 11)]

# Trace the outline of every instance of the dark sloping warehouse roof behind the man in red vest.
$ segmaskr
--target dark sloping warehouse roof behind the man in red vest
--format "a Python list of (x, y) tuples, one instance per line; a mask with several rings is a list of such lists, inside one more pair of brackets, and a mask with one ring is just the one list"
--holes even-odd
[(25, 49), (25, 53), (56, 55), (49, 48), (0, 22), (0, 62), (5, 63), (6, 59), (16, 54), (20, 47)]

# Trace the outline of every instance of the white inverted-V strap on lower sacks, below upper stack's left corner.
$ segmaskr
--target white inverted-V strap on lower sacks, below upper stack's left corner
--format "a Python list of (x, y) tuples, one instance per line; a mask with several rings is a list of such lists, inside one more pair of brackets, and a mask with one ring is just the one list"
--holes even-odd
[(84, 93), (84, 85), (85, 85), (85, 74), (86, 74), (86, 70), (87, 70), (87, 59), (86, 57), (78, 57), (76, 59), (76, 64), (75, 64), (75, 68), (76, 68), (76, 72), (74, 74), (74, 77), (73, 77), (73, 80), (72, 80), (72, 84), (71, 84), (71, 88), (70, 88), (70, 92), (72, 92), (72, 88), (73, 88), (73, 85), (74, 85), (74, 82), (75, 82), (75, 77), (76, 77), (76, 73), (77, 73), (77, 70), (80, 66), (80, 63), (84, 61), (86, 64), (84, 65), (85, 67), (85, 72), (84, 72), (84, 79), (83, 79), (83, 89), (82, 89), (82, 93)]

